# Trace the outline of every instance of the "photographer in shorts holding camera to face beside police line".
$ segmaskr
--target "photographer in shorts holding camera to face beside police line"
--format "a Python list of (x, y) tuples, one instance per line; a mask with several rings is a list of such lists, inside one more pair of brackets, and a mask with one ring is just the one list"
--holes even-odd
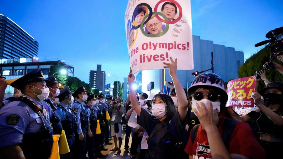
[[(117, 98), (116, 102), (113, 102), (112, 106), (109, 109), (109, 112), (112, 112), (112, 119), (111, 119), (111, 136), (114, 138), (115, 147), (112, 148), (110, 151), (116, 151), (115, 155), (121, 153), (121, 145), (122, 145), (122, 115), (124, 113), (125, 107), (122, 104), (122, 99)], [(119, 140), (119, 147), (117, 145), (117, 137)]]

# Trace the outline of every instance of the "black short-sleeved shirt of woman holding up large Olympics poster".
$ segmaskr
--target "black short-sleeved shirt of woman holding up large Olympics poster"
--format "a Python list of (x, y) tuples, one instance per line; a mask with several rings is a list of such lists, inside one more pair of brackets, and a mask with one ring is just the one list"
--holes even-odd
[[(145, 109), (141, 109), (140, 117), (138, 117), (137, 124), (142, 126), (147, 132), (151, 122), (156, 122), (156, 126), (152, 130), (148, 149), (145, 158), (176, 158), (177, 147), (174, 146), (174, 138), (172, 137), (169, 120), (171, 117), (166, 117), (163, 121), (159, 121), (152, 114), (149, 114)], [(173, 121), (179, 136), (183, 136), (186, 125), (186, 120), (182, 123), (179, 118), (179, 112), (176, 111), (173, 115)]]

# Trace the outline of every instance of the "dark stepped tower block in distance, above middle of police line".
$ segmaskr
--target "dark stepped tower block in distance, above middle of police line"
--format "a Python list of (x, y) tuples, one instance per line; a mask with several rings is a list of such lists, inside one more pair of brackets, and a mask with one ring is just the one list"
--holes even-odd
[(106, 83), (106, 74), (101, 71), (101, 65), (97, 65), (96, 71), (90, 71), (89, 84), (93, 89), (98, 89), (100, 93), (104, 94)]

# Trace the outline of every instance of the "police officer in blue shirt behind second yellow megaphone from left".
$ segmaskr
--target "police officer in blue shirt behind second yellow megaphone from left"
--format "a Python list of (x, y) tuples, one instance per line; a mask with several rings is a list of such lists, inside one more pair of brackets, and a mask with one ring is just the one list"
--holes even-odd
[(56, 97), (60, 103), (57, 105), (59, 118), (62, 123), (63, 130), (65, 130), (67, 142), (70, 148), (70, 152), (67, 154), (60, 155), (61, 159), (71, 158), (73, 152), (73, 144), (75, 141), (75, 132), (77, 131), (77, 119), (75, 111), (69, 106), (72, 103), (72, 92), (67, 86), (60, 90), (60, 94)]

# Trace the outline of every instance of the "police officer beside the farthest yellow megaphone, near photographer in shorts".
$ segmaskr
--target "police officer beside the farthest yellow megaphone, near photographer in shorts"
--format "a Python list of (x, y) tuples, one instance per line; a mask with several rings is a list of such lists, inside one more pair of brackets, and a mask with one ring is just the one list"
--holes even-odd
[[(98, 107), (99, 107), (100, 111), (102, 111), (102, 120), (103, 120), (102, 125), (100, 125), (100, 128), (101, 128), (100, 149), (107, 151), (108, 148), (103, 146), (103, 141), (104, 141), (104, 136), (105, 136), (105, 132), (106, 132), (105, 131), (106, 130), (106, 124), (108, 123), (108, 120), (106, 119), (106, 111), (108, 111), (108, 105), (106, 104), (104, 94), (98, 95), (98, 98), (99, 98)], [(108, 134), (109, 134), (109, 132), (108, 132)]]

